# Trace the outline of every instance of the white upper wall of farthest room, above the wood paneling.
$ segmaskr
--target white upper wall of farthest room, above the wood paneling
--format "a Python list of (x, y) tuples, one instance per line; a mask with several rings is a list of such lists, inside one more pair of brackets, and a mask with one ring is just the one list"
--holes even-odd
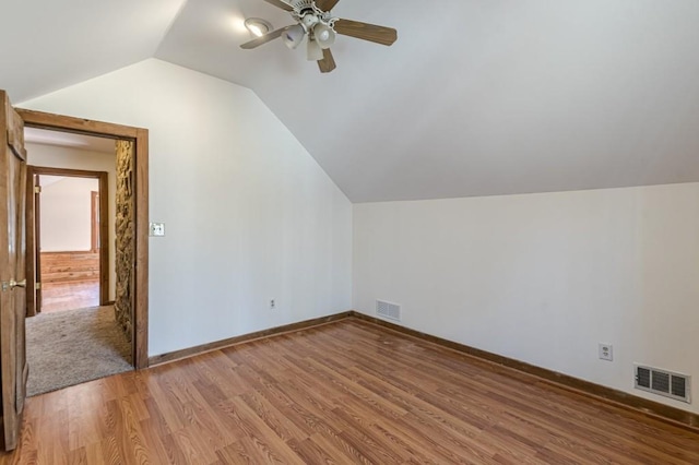
[(92, 249), (92, 192), (97, 179), (60, 178), (45, 182), (40, 176), (42, 252), (90, 251)]

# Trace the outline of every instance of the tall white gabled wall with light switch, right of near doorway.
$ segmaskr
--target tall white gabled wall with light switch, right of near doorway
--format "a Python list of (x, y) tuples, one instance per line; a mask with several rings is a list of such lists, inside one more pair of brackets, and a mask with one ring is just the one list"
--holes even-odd
[(352, 205), (250, 90), (150, 59), (17, 106), (150, 130), (150, 355), (351, 309)]

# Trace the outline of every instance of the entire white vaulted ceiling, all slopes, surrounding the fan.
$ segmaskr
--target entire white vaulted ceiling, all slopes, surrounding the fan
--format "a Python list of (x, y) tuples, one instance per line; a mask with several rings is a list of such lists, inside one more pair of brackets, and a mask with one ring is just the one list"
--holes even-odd
[(3, 0), (0, 87), (155, 56), (252, 88), (354, 202), (699, 181), (696, 0), (341, 0), (399, 39), (339, 37), (330, 74), (238, 48), (244, 17), (291, 23), (262, 0), (93, 3)]

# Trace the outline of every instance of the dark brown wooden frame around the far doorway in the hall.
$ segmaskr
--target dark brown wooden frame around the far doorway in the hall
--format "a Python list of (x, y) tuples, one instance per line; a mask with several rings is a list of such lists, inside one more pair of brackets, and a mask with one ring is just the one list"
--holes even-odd
[[(35, 288), (35, 284), (37, 283), (37, 278), (39, 278), (40, 283), (40, 248), (38, 247), (40, 243), (39, 234), (33, 234), (32, 231), (40, 230), (37, 226), (42, 223), (38, 213), (35, 213), (36, 202), (29, 202), (29, 195), (34, 195), (34, 186), (28, 187), (29, 180), (34, 181), (34, 175), (38, 176), (66, 176), (70, 178), (87, 178), (87, 179), (97, 179), (99, 182), (98, 192), (99, 192), (99, 305), (106, 306), (109, 303), (109, 188), (107, 187), (107, 171), (88, 171), (83, 169), (68, 169), (68, 168), (49, 168), (44, 166), (27, 166), (27, 210), (26, 210), (26, 218), (27, 218), (27, 238), (26, 238), (26, 248), (27, 248), (27, 257), (29, 253), (35, 253), (36, 259), (31, 260), (27, 259), (27, 275), (26, 275), (26, 285), (27, 285), (27, 302), (26, 302), (26, 312), (27, 315), (32, 315), (38, 313), (42, 309), (38, 302), (34, 302), (32, 299), (32, 289)], [(91, 198), (92, 200), (92, 198)], [(92, 208), (91, 205), (91, 218), (92, 218)], [(34, 220), (32, 224), (29, 220)], [(90, 235), (92, 242), (92, 234), (93, 234), (93, 225), (92, 220), (90, 224)], [(90, 246), (92, 251), (92, 243)], [(33, 263), (34, 262), (34, 263)], [(29, 273), (34, 271), (34, 273)], [(38, 299), (34, 299), (38, 300)]]

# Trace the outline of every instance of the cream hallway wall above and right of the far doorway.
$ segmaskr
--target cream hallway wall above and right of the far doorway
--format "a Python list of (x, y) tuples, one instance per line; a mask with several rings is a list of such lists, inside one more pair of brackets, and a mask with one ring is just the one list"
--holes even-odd
[(74, 147), (61, 147), (44, 144), (25, 144), (29, 165), (46, 168), (83, 169), (87, 171), (107, 171), (107, 190), (109, 202), (109, 300), (116, 295), (115, 272), (115, 218), (116, 218), (116, 190), (117, 190), (117, 158), (114, 154), (78, 150)]

